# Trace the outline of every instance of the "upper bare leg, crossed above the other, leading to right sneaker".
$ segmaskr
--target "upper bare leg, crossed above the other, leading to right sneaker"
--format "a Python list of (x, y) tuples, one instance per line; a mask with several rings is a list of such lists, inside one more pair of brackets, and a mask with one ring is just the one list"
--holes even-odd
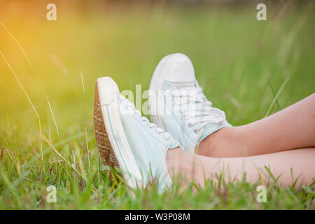
[(196, 153), (241, 157), (315, 146), (315, 94), (272, 116), (239, 127), (225, 127), (200, 142)]

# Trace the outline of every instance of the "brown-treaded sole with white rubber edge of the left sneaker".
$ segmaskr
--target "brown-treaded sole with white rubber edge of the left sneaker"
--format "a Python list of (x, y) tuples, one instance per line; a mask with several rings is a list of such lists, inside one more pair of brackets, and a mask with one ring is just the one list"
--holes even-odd
[(118, 167), (128, 186), (141, 185), (141, 174), (130, 149), (117, 102), (116, 83), (98, 78), (94, 91), (94, 132), (97, 148), (106, 167)]

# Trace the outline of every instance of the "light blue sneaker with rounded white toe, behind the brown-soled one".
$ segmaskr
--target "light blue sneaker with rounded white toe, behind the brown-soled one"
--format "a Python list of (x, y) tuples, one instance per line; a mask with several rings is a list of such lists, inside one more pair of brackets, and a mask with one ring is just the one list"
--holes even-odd
[(152, 122), (190, 153), (195, 153), (205, 137), (231, 126), (225, 113), (212, 107), (204, 96), (192, 62), (180, 53), (160, 61), (151, 79), (148, 101)]

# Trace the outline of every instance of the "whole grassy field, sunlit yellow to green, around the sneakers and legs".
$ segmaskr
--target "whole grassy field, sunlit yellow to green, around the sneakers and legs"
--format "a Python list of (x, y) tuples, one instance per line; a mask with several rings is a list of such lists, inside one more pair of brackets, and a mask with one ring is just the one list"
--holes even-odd
[[(120, 90), (141, 84), (144, 92), (155, 66), (172, 52), (192, 59), (207, 97), (232, 125), (279, 111), (315, 90), (314, 6), (267, 6), (261, 22), (254, 3), (59, 3), (55, 22), (45, 19), (43, 3), (3, 6), (0, 21), (31, 64), (0, 25), (0, 50), (14, 71), (0, 57), (0, 209), (315, 209), (314, 185), (282, 188), (272, 181), (264, 183), (266, 203), (256, 201), (260, 183), (245, 180), (221, 181), (218, 188), (209, 181), (195, 194), (147, 188), (132, 197), (102, 167), (92, 116), (96, 78), (112, 76)], [(51, 185), (56, 203), (46, 201)]]

